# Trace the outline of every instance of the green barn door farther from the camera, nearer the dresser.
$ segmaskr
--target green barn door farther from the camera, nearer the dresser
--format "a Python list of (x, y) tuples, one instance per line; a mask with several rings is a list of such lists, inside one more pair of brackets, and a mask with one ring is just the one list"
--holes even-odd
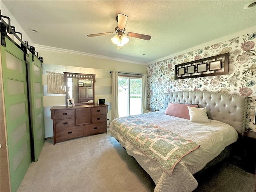
[(44, 146), (44, 107), (41, 62), (36, 56), (32, 59), (32, 53), (29, 54), (28, 87), (33, 138), (32, 149), (34, 147), (34, 161), (37, 161)]

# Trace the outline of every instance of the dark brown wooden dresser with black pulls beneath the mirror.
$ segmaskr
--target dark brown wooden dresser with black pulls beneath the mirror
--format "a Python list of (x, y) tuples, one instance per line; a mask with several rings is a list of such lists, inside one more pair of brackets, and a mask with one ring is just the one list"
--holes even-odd
[(108, 105), (54, 106), (53, 144), (82, 136), (107, 133)]

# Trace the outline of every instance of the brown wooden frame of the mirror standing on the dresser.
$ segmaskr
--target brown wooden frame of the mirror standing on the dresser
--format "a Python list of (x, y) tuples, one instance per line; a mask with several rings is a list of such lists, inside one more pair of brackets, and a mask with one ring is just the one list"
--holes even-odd
[[(81, 80), (92, 80), (93, 82), (93, 99), (92, 99), (92, 103), (79, 103), (76, 102), (75, 105), (92, 105), (94, 104), (94, 100), (95, 100), (95, 94), (94, 94), (94, 84), (95, 84), (95, 76), (94, 74), (83, 74), (83, 73), (70, 73), (70, 72), (64, 72), (64, 81), (66, 82), (66, 102), (68, 98), (68, 78), (77, 78), (77, 79), (81, 79)], [(78, 93), (79, 94), (79, 93)], [(67, 103), (66, 103), (67, 105)]]

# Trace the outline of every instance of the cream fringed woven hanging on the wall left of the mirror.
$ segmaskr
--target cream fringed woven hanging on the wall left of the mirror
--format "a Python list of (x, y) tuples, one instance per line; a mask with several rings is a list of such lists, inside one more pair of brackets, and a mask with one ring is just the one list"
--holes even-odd
[(47, 93), (66, 94), (64, 74), (47, 72)]

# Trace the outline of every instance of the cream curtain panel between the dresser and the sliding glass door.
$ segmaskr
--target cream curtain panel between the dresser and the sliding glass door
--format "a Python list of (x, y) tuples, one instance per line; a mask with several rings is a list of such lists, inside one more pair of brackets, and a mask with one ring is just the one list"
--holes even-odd
[(111, 120), (119, 117), (118, 114), (118, 72), (113, 71), (111, 74), (112, 81), (112, 103), (111, 103)]

